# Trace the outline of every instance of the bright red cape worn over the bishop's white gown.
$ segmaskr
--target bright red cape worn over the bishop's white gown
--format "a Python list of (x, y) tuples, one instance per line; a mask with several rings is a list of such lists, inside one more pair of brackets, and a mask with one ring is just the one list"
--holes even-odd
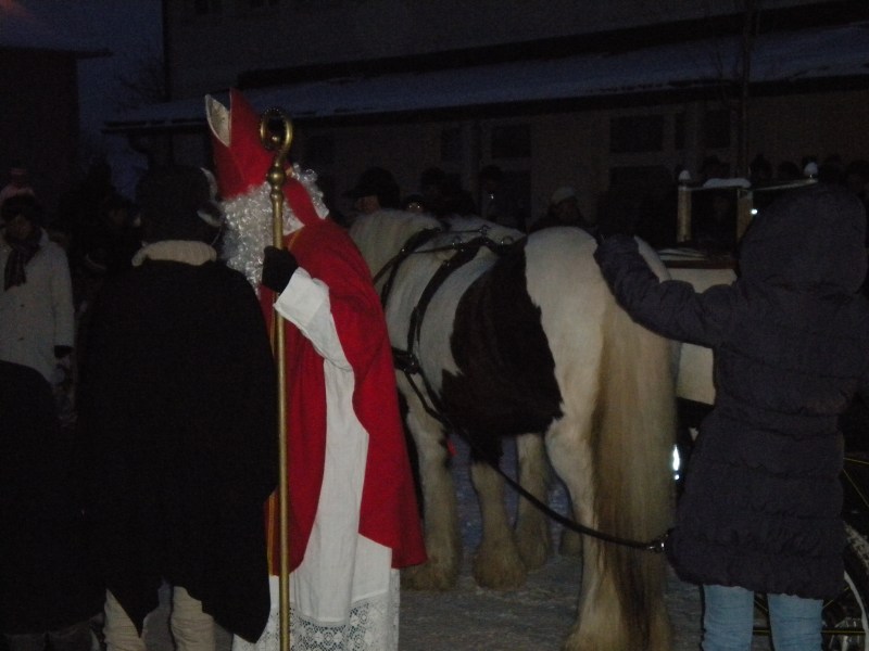
[[(370, 272), (350, 237), (324, 219), (287, 235), (301, 269), (325, 283), (344, 356), (353, 369), (352, 406), (368, 433), (358, 533), (392, 550), (392, 566), (425, 562), (419, 511), (398, 407), (386, 321)], [(298, 273), (298, 271), (297, 271)], [(266, 318), (274, 293), (261, 290)], [(326, 456), (324, 357), (292, 322), (285, 323), (290, 569), (302, 562), (323, 485)], [(277, 500), (267, 526), (272, 573), (279, 572)]]

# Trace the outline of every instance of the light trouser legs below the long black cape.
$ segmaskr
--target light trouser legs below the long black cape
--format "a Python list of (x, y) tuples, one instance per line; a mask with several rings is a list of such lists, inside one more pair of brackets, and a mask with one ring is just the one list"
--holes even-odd
[[(105, 592), (105, 626), (103, 635), (108, 651), (146, 651), (144, 637), (148, 621), (144, 618), (142, 635), (117, 602), (111, 590)], [(172, 589), (172, 635), (177, 651), (214, 651), (214, 618), (202, 612), (202, 603), (193, 599), (180, 586)]]

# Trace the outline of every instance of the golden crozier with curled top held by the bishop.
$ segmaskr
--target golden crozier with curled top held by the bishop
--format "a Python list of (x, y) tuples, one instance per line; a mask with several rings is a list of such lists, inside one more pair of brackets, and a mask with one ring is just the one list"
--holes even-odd
[[(272, 192), (272, 237), (278, 248), (284, 247), (284, 183), (287, 181), (285, 161), (292, 143), (292, 123), (279, 108), (269, 108), (260, 122), (260, 141), (275, 152), (266, 180)], [(290, 649), (290, 550), (289, 493), (287, 478), (287, 379), (284, 357), (284, 319), (273, 310), (273, 350), (278, 373), (278, 512), (280, 532), (280, 651)]]

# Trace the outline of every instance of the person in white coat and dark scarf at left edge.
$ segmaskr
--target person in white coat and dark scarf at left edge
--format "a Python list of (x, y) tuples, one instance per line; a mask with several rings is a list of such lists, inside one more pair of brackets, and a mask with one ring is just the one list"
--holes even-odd
[(66, 253), (41, 228), (29, 195), (3, 203), (0, 234), (0, 360), (39, 371), (48, 381), (75, 343), (75, 310)]

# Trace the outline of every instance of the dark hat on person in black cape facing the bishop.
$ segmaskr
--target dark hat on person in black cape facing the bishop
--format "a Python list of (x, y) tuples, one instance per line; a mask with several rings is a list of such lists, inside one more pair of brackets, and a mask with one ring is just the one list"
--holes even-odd
[(139, 181), (136, 201), (147, 242), (211, 243), (223, 226), (214, 177), (200, 167), (173, 165), (149, 171)]

